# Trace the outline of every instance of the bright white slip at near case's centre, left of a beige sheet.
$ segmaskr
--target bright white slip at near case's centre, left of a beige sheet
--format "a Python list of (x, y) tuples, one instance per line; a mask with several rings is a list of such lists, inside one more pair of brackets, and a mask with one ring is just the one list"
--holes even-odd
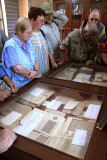
[(52, 100), (49, 105), (46, 106), (46, 108), (57, 110), (60, 105), (62, 104), (61, 101)]

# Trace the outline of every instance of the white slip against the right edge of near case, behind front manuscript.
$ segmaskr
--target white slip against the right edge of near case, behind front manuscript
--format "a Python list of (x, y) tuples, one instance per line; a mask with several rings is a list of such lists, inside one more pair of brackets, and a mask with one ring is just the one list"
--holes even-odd
[(101, 105), (89, 104), (87, 111), (84, 116), (90, 119), (97, 119)]

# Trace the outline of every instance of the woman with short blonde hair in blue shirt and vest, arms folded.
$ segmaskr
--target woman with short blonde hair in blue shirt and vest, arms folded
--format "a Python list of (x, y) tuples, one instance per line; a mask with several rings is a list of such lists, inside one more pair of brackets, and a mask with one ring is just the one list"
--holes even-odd
[(32, 36), (32, 23), (20, 17), (15, 25), (15, 34), (9, 39), (2, 52), (2, 63), (8, 77), (18, 88), (34, 78), (40, 78), (39, 62), (29, 38)]

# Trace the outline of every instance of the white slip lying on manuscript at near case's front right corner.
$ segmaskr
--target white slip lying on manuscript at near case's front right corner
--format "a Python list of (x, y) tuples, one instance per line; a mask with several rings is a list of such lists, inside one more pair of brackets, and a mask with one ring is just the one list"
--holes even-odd
[(76, 129), (74, 138), (72, 140), (72, 144), (78, 146), (85, 146), (86, 136), (87, 136), (87, 130)]

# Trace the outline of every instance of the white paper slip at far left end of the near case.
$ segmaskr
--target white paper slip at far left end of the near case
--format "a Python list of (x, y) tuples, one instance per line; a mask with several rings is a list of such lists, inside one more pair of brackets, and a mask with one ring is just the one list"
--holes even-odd
[(11, 125), (13, 122), (15, 122), (17, 119), (19, 119), (22, 116), (22, 114), (12, 111), (7, 116), (3, 117), (0, 121), (4, 125)]

